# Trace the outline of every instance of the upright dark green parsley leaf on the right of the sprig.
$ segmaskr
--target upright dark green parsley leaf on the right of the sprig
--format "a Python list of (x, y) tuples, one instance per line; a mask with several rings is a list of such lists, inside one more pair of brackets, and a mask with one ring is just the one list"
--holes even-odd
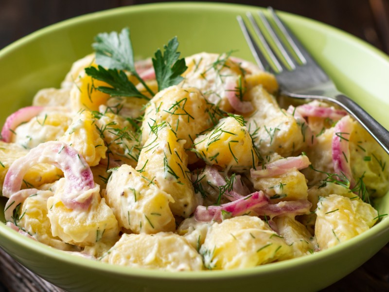
[(168, 45), (164, 45), (163, 48), (163, 55), (158, 49), (155, 53), (155, 58), (153, 58), (153, 66), (159, 91), (180, 83), (183, 79), (181, 74), (188, 68), (184, 58), (178, 59), (180, 53), (177, 52), (177, 37), (172, 38), (168, 42)]

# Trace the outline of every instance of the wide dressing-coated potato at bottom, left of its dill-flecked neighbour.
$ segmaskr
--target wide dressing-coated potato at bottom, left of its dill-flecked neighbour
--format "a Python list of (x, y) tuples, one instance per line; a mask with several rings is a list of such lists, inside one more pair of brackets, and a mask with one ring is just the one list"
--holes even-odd
[(199, 271), (201, 256), (174, 233), (123, 234), (101, 261), (121, 266), (165, 271)]

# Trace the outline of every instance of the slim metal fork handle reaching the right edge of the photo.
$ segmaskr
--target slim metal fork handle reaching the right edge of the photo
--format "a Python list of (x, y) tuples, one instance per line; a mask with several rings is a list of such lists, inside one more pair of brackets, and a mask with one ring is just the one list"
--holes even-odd
[(347, 110), (389, 154), (389, 131), (386, 128), (346, 95), (336, 95), (334, 102)]

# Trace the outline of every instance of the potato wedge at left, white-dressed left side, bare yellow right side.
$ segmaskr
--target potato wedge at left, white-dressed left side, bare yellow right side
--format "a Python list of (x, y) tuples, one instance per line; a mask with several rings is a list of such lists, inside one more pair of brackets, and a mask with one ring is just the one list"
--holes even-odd
[(95, 123), (92, 113), (83, 110), (73, 117), (68, 130), (59, 139), (76, 149), (89, 166), (97, 165), (102, 158), (106, 158), (107, 148)]

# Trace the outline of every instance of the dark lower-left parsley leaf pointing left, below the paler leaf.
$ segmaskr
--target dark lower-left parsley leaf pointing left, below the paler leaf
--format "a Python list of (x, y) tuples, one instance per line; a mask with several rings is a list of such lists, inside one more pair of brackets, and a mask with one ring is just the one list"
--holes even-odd
[(99, 86), (96, 89), (102, 91), (111, 96), (129, 96), (138, 97), (149, 100), (147, 96), (142, 94), (135, 85), (128, 80), (124, 71), (117, 71), (115, 69), (105, 69), (98, 65), (98, 68), (89, 67), (85, 68), (85, 73), (91, 76), (93, 79), (106, 82), (112, 87)]

